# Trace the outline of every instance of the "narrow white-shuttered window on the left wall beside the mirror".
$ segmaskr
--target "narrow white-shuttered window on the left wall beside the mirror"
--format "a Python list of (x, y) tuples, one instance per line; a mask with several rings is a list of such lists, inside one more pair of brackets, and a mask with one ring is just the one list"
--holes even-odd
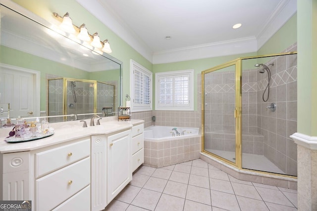
[(131, 60), (131, 110), (152, 110), (152, 72)]

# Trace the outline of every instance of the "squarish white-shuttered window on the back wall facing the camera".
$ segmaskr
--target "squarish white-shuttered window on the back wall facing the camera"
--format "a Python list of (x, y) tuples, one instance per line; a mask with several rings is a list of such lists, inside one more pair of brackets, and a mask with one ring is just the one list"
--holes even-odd
[(194, 70), (155, 74), (156, 110), (194, 110)]

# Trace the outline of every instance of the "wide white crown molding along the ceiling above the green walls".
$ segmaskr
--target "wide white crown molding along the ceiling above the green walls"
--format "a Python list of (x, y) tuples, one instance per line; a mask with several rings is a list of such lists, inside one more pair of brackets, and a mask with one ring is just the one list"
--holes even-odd
[(255, 37), (152, 52), (100, 0), (76, 1), (153, 64), (257, 52), (297, 12), (297, 0), (282, 0)]

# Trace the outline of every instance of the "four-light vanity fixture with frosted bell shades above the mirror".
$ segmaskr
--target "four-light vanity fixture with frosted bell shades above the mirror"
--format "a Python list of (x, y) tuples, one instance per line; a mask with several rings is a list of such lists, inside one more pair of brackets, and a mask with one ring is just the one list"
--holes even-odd
[[(71, 34), (77, 34), (77, 38), (81, 41), (84, 42), (82, 44), (84, 44), (85, 46), (91, 45), (88, 48), (95, 50), (96, 52), (102, 54), (103, 51), (105, 53), (111, 53), (112, 50), (110, 48), (110, 44), (108, 42), (108, 40), (105, 40), (104, 42), (100, 41), (100, 37), (98, 35), (98, 33), (94, 33), (93, 35), (90, 35), (88, 33), (88, 30), (86, 28), (85, 24), (82, 24), (80, 27), (74, 25), (72, 23), (71, 18), (69, 17), (69, 13), (66, 12), (66, 14), (61, 17), (60, 15), (58, 15), (56, 12), (53, 12), (54, 17), (56, 17), (57, 19), (62, 20), (62, 23), (59, 25), (59, 27), (67, 33), (71, 33)], [(89, 41), (93, 40), (92, 42), (90, 42), (90, 44), (88, 43)], [(78, 41), (76, 41), (78, 42)], [(86, 43), (86, 44), (85, 44)]]

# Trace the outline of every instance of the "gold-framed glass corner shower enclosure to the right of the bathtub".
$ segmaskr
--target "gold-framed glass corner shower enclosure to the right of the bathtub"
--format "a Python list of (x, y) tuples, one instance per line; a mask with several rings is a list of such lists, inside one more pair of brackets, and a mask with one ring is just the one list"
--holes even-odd
[(297, 53), (202, 72), (203, 152), (238, 169), (297, 176)]

